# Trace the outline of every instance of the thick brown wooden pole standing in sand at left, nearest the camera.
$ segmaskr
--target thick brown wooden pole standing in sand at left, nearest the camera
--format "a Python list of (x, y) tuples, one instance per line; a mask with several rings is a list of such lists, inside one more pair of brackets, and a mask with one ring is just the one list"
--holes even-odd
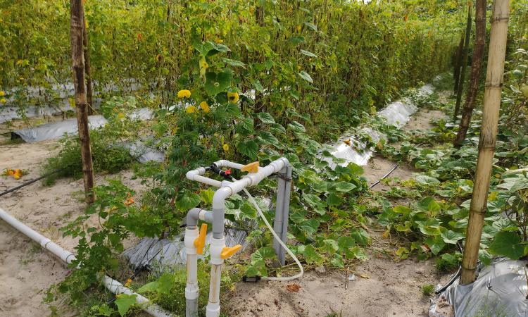
[(75, 108), (77, 109), (77, 126), (81, 148), (82, 173), (84, 174), (84, 194), (88, 204), (94, 202), (94, 166), (90, 134), (88, 128), (88, 112), (86, 101), (86, 85), (84, 81), (84, 52), (82, 48), (82, 30), (84, 15), (81, 0), (70, 0), (70, 40), (72, 45), (73, 85), (75, 87)]

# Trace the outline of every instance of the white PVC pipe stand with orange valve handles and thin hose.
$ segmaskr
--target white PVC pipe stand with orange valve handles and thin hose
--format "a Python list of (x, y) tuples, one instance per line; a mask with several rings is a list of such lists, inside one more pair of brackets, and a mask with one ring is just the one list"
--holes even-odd
[[(231, 170), (222, 170), (222, 168), (234, 168), (247, 172), (240, 180), (232, 178)], [(222, 264), (224, 260), (237, 253), (241, 249), (241, 245), (237, 244), (234, 247), (226, 247), (224, 238), (224, 220), (225, 220), (225, 199), (244, 191), (255, 206), (260, 218), (270, 229), (273, 237), (273, 248), (277, 259), (281, 265), (284, 265), (284, 256), (287, 252), (297, 263), (300, 272), (297, 275), (287, 278), (265, 278), (268, 280), (292, 280), (300, 278), (303, 275), (303, 267), (296, 256), (286, 246), (288, 217), (289, 217), (289, 200), (291, 191), (291, 165), (285, 158), (280, 158), (272, 161), (270, 165), (260, 167), (258, 162), (242, 165), (231, 161), (220, 160), (211, 164), (208, 167), (199, 167), (195, 170), (187, 172), (189, 180), (195, 180), (206, 185), (219, 187), (213, 195), (213, 210), (206, 211), (199, 208), (191, 209), (187, 213), (187, 228), (185, 230), (185, 251), (187, 252), (187, 286), (185, 287), (186, 299), (186, 316), (198, 316), (198, 278), (197, 278), (197, 256), (203, 253), (203, 248), (206, 244), (207, 223), (213, 224), (213, 239), (210, 241), (210, 283), (209, 283), (209, 300), (206, 307), (206, 316), (218, 317), (220, 316), (220, 275), (222, 273)], [(203, 175), (206, 172), (215, 173), (225, 180), (213, 180)], [(256, 204), (255, 199), (247, 191), (247, 187), (258, 185), (260, 181), (268, 178), (270, 175), (277, 173), (277, 206), (275, 209), (275, 222), (273, 228), (268, 220), (265, 218), (263, 212)], [(203, 220), (206, 223), (201, 225), (198, 229), (198, 220)]]

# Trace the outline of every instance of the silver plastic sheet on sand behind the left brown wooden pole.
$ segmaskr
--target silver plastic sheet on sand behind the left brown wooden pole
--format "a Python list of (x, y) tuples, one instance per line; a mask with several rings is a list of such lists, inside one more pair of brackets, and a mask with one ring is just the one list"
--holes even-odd
[[(88, 123), (90, 129), (101, 128), (108, 121), (103, 116), (89, 116)], [(13, 131), (25, 142), (40, 142), (48, 139), (58, 139), (63, 135), (75, 135), (77, 133), (77, 119), (67, 119), (54, 123), (46, 123), (35, 128), (27, 128)]]

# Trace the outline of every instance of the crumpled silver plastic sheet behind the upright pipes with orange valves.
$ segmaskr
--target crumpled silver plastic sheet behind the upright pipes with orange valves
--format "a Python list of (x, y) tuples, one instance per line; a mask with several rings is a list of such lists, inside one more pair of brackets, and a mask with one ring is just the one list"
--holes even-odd
[[(225, 245), (234, 247), (241, 244), (242, 250), (246, 249), (249, 242), (246, 241), (248, 232), (230, 227), (232, 223), (226, 220), (225, 225)], [(171, 239), (158, 239), (156, 237), (144, 237), (137, 245), (123, 252), (123, 256), (130, 262), (132, 270), (146, 269), (154, 273), (172, 271), (173, 268), (185, 266), (187, 254), (183, 242), (184, 233)], [(213, 238), (213, 232), (208, 232), (206, 245)], [(208, 249), (204, 249), (203, 255), (198, 259), (203, 259), (208, 254)]]

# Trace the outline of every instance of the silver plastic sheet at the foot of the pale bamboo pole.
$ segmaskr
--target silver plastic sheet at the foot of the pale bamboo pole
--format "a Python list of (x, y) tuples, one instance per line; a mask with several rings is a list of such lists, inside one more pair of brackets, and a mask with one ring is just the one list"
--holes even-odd
[[(477, 280), (459, 285), (458, 279), (443, 293), (455, 311), (463, 316), (528, 316), (528, 261), (497, 259), (481, 267)], [(442, 298), (443, 297), (443, 298)], [(430, 317), (448, 317), (434, 302), (429, 307)]]

